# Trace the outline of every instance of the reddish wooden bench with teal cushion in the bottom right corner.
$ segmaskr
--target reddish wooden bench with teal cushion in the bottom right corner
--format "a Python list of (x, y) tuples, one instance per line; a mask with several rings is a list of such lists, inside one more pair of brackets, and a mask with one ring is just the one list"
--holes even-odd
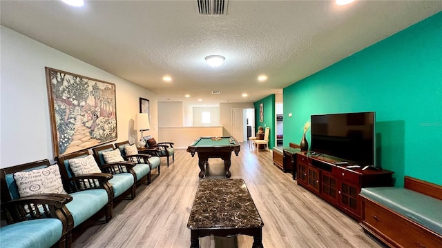
[(404, 180), (361, 189), (361, 227), (390, 247), (442, 247), (442, 186)]

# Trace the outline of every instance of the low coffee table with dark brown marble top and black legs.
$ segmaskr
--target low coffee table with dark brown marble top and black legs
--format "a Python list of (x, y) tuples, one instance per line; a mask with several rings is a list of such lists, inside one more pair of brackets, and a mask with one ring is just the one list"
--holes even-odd
[(262, 222), (255, 203), (242, 179), (200, 180), (187, 227), (191, 229), (191, 248), (198, 238), (240, 234), (253, 236), (253, 248), (262, 246)]

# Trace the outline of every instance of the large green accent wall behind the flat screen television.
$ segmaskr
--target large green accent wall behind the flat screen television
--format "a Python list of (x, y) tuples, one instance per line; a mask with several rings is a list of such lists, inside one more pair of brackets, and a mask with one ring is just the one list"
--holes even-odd
[(285, 146), (311, 114), (374, 111), (377, 163), (395, 185), (442, 185), (442, 12), (285, 87), (283, 102)]

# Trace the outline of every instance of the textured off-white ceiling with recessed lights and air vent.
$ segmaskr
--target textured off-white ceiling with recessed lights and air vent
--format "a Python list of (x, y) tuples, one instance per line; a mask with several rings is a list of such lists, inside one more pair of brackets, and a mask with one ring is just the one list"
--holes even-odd
[[(334, 1), (229, 0), (222, 17), (198, 14), (196, 0), (85, 0), (82, 8), (61, 1), (1, 0), (0, 10), (1, 25), (141, 85), (159, 101), (213, 105), (281, 93), (440, 12), (442, 1), (336, 6)], [(226, 60), (211, 68), (204, 61), (211, 54)], [(173, 81), (163, 82), (165, 74)], [(259, 74), (268, 80), (258, 82)]]

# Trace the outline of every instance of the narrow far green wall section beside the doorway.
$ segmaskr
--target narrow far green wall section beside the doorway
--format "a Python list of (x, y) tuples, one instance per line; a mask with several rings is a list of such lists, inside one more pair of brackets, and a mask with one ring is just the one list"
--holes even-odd
[[(263, 103), (264, 107), (264, 118), (263, 122), (260, 122), (260, 104)], [(271, 94), (260, 101), (253, 103), (255, 107), (255, 129), (258, 132), (258, 127), (270, 128), (269, 133), (269, 149), (275, 146), (275, 132), (276, 132), (276, 112), (275, 112), (275, 94)]]

